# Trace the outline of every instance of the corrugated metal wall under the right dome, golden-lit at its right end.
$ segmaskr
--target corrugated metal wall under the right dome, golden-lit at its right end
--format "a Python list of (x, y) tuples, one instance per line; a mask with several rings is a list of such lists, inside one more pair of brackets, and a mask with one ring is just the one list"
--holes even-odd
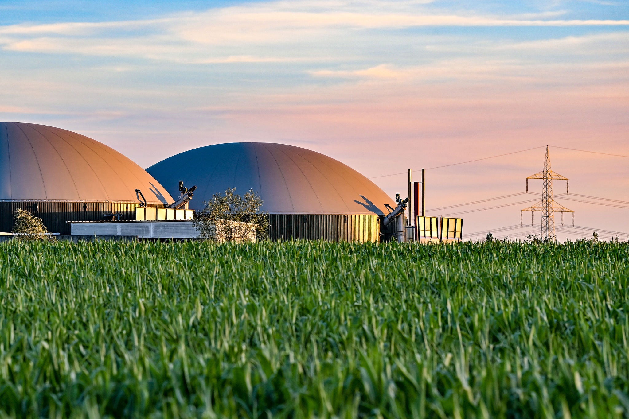
[(378, 215), (269, 214), (270, 239), (380, 241)]

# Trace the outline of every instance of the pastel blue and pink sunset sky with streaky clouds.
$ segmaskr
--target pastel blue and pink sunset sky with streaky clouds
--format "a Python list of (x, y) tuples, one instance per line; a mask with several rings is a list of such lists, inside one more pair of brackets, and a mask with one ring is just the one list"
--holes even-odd
[(406, 170), (427, 168), (426, 215), (523, 202), (452, 215), (471, 238), (534, 232), (500, 229), (538, 196), (437, 209), (525, 192), (549, 145), (573, 195), (557, 202), (587, 227), (557, 236), (629, 233), (629, 204), (574, 195), (629, 201), (629, 1), (0, 0), (0, 120), (76, 131), (145, 168), (285, 143), (403, 196)]

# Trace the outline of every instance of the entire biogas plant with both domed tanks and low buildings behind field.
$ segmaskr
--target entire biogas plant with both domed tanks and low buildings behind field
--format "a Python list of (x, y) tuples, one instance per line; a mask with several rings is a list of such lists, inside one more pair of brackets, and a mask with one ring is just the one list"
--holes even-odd
[[(394, 201), (358, 171), (315, 151), (274, 143), (215, 144), (143, 170), (81, 134), (0, 122), (2, 232), (11, 231), (21, 208), (62, 236), (189, 239), (199, 236), (195, 213), (228, 188), (259, 195), (273, 240), (407, 239), (408, 199)], [(418, 222), (428, 227), (422, 237), (438, 237), (436, 221), (423, 218)]]

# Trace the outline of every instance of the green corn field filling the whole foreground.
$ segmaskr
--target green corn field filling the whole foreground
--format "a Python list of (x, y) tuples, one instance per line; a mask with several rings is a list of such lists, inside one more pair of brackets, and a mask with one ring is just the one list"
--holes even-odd
[(0, 244), (1, 417), (620, 418), (629, 246)]

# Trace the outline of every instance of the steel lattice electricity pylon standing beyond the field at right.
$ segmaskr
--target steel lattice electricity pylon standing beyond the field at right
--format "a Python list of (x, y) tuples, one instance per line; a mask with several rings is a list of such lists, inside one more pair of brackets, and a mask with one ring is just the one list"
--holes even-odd
[(520, 210), (520, 226), (522, 225), (522, 214), (524, 211), (531, 212), (531, 225), (533, 225), (533, 215), (535, 212), (542, 213), (542, 239), (555, 239), (555, 212), (561, 212), (561, 225), (564, 225), (564, 212), (572, 212), (572, 226), (574, 226), (574, 211), (562, 207), (557, 204), (552, 195), (552, 181), (565, 180), (565, 193), (569, 193), (568, 178), (563, 177), (559, 173), (550, 170), (550, 156), (548, 155), (548, 146), (546, 146), (546, 158), (544, 160), (544, 169), (533, 176), (526, 178), (526, 193), (528, 193), (528, 180), (542, 179), (542, 200), (531, 207)]

